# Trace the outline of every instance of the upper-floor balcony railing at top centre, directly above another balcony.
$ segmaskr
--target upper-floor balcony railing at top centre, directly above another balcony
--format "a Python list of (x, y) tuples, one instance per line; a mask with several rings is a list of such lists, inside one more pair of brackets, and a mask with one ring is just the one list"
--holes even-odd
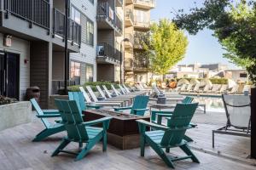
[(107, 2), (98, 2), (97, 6), (97, 19), (108, 19), (113, 27), (123, 31), (123, 21), (119, 19), (119, 16), (114, 12), (113, 8)]

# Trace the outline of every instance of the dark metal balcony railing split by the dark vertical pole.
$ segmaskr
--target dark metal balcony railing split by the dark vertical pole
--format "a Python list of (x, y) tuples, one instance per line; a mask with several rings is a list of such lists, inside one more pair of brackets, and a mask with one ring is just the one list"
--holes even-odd
[[(60, 37), (65, 37), (65, 22), (66, 16), (61, 13), (58, 9), (54, 8), (53, 14), (53, 34)], [(81, 43), (81, 26), (75, 21), (68, 19), (68, 30), (67, 30), (68, 40), (75, 42), (80, 45)]]

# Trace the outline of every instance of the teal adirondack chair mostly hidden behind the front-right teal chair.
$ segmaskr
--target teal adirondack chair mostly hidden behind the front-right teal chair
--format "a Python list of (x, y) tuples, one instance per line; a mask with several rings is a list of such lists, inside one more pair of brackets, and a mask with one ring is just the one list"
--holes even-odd
[[(193, 99), (194, 98), (187, 96), (185, 99), (183, 99), (182, 103), (190, 104), (192, 103)], [(175, 106), (173, 107), (175, 108)], [(163, 116), (172, 116), (172, 111), (151, 111), (151, 122), (161, 124)]]

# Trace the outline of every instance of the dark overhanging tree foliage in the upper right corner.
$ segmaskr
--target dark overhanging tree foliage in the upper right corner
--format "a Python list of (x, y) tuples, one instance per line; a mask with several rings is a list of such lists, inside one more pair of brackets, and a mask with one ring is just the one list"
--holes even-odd
[(190, 14), (179, 10), (173, 20), (177, 27), (196, 34), (204, 28), (226, 50), (225, 58), (247, 69), (256, 84), (256, 3), (240, 0), (206, 0), (202, 8), (191, 8)]

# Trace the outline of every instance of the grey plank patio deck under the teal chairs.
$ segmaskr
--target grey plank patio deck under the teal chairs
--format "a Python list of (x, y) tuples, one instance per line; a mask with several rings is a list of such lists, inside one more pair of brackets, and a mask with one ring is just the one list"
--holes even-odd
[[(201, 116), (205, 114), (197, 113), (194, 122), (197, 120), (200, 122)], [(195, 142), (190, 145), (201, 164), (189, 160), (177, 161), (176, 169), (255, 169), (256, 167), (251, 165), (255, 160), (246, 159), (249, 139), (216, 135), (217, 148), (212, 150), (211, 129), (215, 127), (200, 123), (197, 128), (189, 130), (189, 135), (195, 139)], [(65, 133), (55, 134), (43, 142), (33, 143), (33, 137), (42, 128), (41, 122), (35, 120), (1, 131), (0, 169), (170, 169), (154, 153), (154, 150), (149, 148), (144, 158), (139, 156), (139, 149), (118, 150), (111, 145), (108, 145), (106, 153), (102, 153), (102, 144), (97, 144), (96, 148), (91, 150), (82, 161), (73, 161), (74, 157), (67, 154), (50, 157)], [(76, 150), (78, 145), (70, 144), (69, 148)], [(220, 156), (218, 156), (218, 150)], [(171, 150), (171, 153), (174, 156), (183, 154), (178, 149)]]

